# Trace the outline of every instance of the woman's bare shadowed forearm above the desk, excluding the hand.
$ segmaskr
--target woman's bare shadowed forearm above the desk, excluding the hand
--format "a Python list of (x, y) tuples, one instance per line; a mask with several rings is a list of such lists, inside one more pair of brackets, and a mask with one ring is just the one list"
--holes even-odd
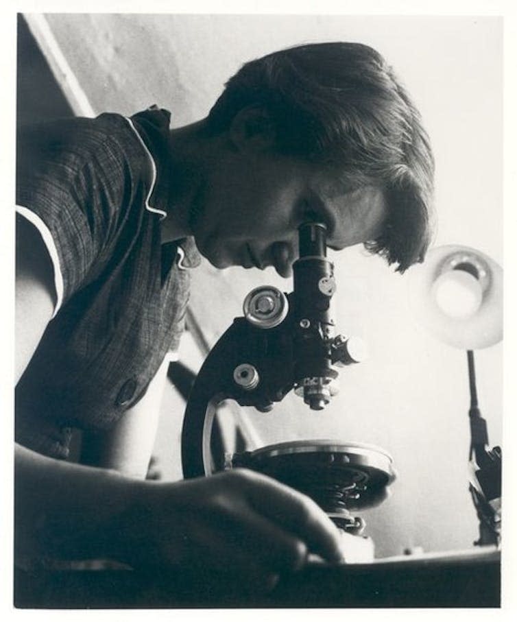
[(138, 498), (141, 481), (49, 458), (19, 444), (14, 455), (16, 564), (120, 559), (120, 519)]

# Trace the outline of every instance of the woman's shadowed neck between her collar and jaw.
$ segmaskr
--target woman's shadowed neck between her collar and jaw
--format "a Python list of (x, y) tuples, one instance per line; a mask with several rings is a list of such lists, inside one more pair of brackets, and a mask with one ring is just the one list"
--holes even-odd
[(199, 204), (203, 185), (203, 157), (210, 150), (206, 121), (171, 130), (169, 135), (171, 175), (169, 209), (162, 222), (163, 241), (192, 235), (192, 216)]

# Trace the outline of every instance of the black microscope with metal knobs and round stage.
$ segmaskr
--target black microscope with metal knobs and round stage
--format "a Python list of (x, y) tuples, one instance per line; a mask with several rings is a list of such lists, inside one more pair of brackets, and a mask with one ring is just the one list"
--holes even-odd
[[(195, 379), (182, 428), (185, 478), (215, 473), (211, 432), (217, 406), (270, 411), (291, 390), (313, 410), (337, 393), (338, 368), (364, 358), (360, 339), (337, 335), (332, 298), (333, 263), (326, 256), (326, 227), (298, 230), (299, 258), (293, 291), (256, 287), (243, 303), (243, 317), (213, 347)], [(357, 511), (378, 505), (394, 480), (392, 457), (375, 446), (334, 440), (282, 442), (235, 453), (224, 468), (249, 468), (303, 492), (337, 527), (362, 536)], [(364, 537), (364, 536), (363, 536)]]

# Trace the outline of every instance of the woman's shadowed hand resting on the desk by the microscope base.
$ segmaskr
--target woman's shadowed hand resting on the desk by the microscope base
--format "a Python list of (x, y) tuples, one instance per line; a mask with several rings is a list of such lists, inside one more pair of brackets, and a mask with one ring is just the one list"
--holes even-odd
[(303, 566), (309, 553), (344, 559), (341, 534), (320, 507), (254, 471), (147, 482), (142, 491), (122, 532), (130, 545), (126, 561), (135, 568), (198, 568), (267, 589), (280, 573)]

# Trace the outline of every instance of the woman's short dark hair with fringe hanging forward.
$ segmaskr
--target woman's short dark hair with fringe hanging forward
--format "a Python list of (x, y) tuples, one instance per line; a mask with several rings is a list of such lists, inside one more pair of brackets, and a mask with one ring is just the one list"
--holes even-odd
[(262, 107), (278, 152), (339, 165), (350, 190), (377, 184), (388, 204), (383, 232), (365, 243), (404, 272), (431, 239), (434, 161), (420, 114), (376, 50), (315, 43), (252, 60), (228, 80), (207, 119), (211, 133)]

